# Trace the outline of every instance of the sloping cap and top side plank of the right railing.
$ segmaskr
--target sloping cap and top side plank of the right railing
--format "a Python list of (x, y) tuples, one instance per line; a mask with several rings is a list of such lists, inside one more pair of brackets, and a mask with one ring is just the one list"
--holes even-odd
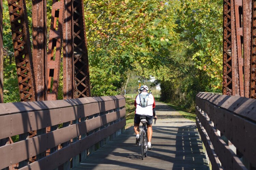
[(256, 167), (256, 100), (199, 93), (196, 103), (208, 114), (214, 126)]

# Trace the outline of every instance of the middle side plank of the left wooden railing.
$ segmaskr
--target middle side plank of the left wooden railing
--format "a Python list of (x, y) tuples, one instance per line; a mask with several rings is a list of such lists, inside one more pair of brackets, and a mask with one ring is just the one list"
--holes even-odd
[(73, 124), (65, 128), (57, 129), (55, 131), (35, 136), (31, 139), (19, 141), (10, 145), (0, 147), (0, 169), (9, 166), (11, 163), (18, 163), (22, 160), (30, 158), (31, 156), (42, 153), (48, 149), (58, 146), (61, 143), (69, 141), (70, 139), (88, 133), (100, 126), (110, 123), (114, 120), (124, 117), (126, 114), (125, 108), (117, 112), (112, 112), (93, 119), (86, 120), (81, 123)]

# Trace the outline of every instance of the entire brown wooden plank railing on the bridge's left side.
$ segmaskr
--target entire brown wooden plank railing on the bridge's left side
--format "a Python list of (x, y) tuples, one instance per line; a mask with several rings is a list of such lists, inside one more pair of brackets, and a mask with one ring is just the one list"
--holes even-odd
[[(125, 113), (121, 95), (2, 103), (0, 169), (70, 169), (124, 130)], [(15, 135), (18, 142), (5, 143)]]

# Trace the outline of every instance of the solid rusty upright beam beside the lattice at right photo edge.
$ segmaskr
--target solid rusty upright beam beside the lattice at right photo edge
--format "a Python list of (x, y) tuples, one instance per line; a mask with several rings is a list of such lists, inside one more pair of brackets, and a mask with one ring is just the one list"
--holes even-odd
[(250, 97), (252, 0), (243, 0), (244, 97)]

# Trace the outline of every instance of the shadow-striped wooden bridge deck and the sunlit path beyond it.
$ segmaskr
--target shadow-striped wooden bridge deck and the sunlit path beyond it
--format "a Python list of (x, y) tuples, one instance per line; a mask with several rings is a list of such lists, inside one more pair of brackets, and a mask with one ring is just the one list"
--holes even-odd
[(159, 102), (156, 114), (153, 149), (144, 160), (131, 127), (73, 169), (209, 169), (195, 122)]

